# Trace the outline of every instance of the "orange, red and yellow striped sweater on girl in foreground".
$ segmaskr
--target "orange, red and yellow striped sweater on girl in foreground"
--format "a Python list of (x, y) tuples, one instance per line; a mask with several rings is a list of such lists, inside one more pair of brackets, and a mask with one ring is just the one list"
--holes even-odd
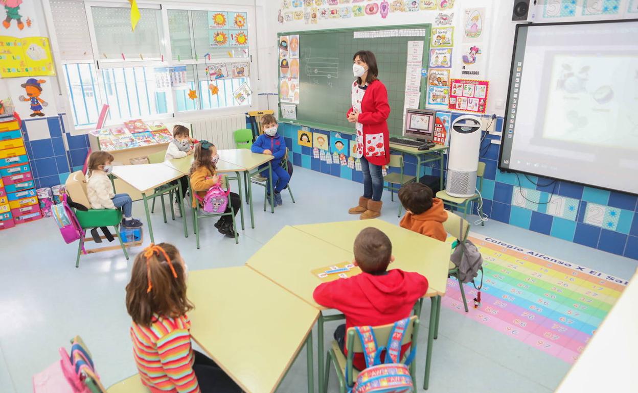
[(133, 356), (144, 385), (151, 392), (199, 393), (193, 371), (191, 321), (156, 317), (151, 327), (131, 326)]

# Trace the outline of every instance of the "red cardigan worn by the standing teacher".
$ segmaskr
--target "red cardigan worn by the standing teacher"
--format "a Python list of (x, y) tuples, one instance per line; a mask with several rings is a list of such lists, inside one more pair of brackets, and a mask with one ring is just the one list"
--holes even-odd
[[(346, 117), (352, 113), (352, 106)], [(383, 145), (385, 145), (385, 155), (377, 157), (367, 157), (366, 160), (375, 165), (387, 165), (390, 162), (390, 132), (388, 131), (387, 118), (390, 115), (390, 105), (388, 104), (388, 92), (385, 85), (380, 80), (368, 83), (366, 94), (361, 102), (361, 113), (359, 123), (363, 124), (364, 141), (367, 134), (378, 134), (383, 132)], [(364, 149), (364, 155), (366, 150)]]

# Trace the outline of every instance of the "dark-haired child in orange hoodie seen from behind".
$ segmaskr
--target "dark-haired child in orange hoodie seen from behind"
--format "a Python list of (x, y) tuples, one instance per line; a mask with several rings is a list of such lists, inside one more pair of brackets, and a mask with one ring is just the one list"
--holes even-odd
[(430, 187), (408, 183), (399, 190), (399, 200), (406, 210), (399, 222), (401, 227), (445, 241), (447, 233), (443, 222), (447, 220), (447, 212), (443, 209), (443, 201), (433, 197)]

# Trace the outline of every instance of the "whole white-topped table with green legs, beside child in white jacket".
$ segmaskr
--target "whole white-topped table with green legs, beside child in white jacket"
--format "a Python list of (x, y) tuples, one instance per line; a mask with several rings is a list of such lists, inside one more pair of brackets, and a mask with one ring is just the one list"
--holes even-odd
[[(172, 182), (184, 176), (183, 173), (176, 171), (165, 164), (142, 164), (142, 165), (120, 165), (114, 166), (112, 175), (122, 180), (122, 182), (130, 185), (134, 189), (138, 190), (142, 194), (142, 201), (144, 201), (144, 210), (146, 211), (146, 221), (149, 227), (149, 236), (151, 237), (151, 243), (155, 243), (153, 237), (153, 227), (151, 223), (151, 213), (149, 212), (148, 200), (154, 196), (163, 194), (168, 191), (165, 189), (161, 192), (155, 193), (154, 189), (161, 185)], [(179, 190), (181, 195), (182, 184), (177, 182), (172, 186), (172, 189)], [(147, 196), (147, 192), (152, 194)], [(184, 217), (184, 201), (180, 201), (179, 206), (181, 208), (182, 217)], [(186, 228), (186, 220), (184, 222), (184, 236), (188, 238), (188, 229)]]

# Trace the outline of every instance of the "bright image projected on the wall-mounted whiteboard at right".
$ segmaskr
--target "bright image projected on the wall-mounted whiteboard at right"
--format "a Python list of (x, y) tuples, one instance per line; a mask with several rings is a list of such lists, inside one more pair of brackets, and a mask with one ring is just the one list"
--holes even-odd
[(554, 55), (542, 136), (638, 148), (638, 64), (628, 55)]

